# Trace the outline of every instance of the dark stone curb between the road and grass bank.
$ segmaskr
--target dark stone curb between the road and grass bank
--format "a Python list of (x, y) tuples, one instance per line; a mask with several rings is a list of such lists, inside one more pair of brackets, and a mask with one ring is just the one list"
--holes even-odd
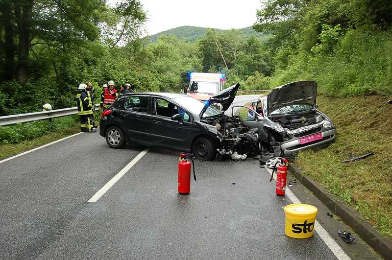
[(392, 256), (391, 239), (381, 235), (370, 222), (362, 218), (351, 206), (344, 203), (338, 197), (329, 194), (328, 191), (310, 177), (303, 175), (297, 165), (290, 163), (289, 171), (303, 184), (303, 186), (312, 191), (328, 209), (338, 215), (345, 224), (361, 236), (374, 251), (379, 253), (384, 259), (390, 259)]

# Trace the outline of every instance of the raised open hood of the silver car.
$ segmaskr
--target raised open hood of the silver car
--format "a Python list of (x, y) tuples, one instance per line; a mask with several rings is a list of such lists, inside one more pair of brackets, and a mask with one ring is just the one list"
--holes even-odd
[(309, 104), (316, 106), (317, 82), (312, 80), (296, 81), (274, 88), (267, 97), (267, 114), (278, 108)]

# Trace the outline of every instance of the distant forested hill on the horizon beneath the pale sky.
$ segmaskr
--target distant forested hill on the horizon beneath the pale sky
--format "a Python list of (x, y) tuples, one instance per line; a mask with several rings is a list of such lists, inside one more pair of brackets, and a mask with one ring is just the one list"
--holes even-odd
[[(215, 29), (218, 32), (225, 32), (227, 30)], [(261, 40), (266, 40), (267, 36), (265, 33), (255, 31), (252, 26), (245, 27), (239, 29), (242, 31), (245, 38), (248, 38), (250, 35), (256, 35), (257, 38)], [(207, 28), (205, 27), (197, 27), (197, 26), (180, 26), (176, 28), (172, 28), (167, 31), (158, 32), (154, 35), (150, 35), (145, 37), (150, 42), (156, 42), (159, 36), (162, 35), (174, 35), (175, 38), (181, 39), (184, 38), (186, 42), (196, 42), (198, 39), (204, 37), (206, 35)]]

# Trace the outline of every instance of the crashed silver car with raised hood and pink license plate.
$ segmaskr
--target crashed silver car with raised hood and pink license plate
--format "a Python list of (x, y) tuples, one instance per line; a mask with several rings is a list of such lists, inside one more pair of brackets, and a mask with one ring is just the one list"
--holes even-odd
[(317, 109), (316, 95), (317, 82), (292, 82), (253, 100), (250, 108), (233, 107), (232, 114), (259, 129), (262, 162), (271, 157), (290, 157), (300, 150), (320, 148), (335, 140), (336, 127)]

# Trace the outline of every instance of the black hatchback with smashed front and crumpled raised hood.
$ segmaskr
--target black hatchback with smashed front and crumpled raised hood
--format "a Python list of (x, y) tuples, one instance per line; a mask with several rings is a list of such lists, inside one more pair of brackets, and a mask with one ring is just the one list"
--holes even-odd
[[(112, 148), (130, 142), (192, 152), (202, 160), (214, 160), (217, 151), (231, 154), (234, 148), (249, 149), (249, 142), (257, 150), (258, 131), (223, 113), (239, 87), (236, 84), (221, 91), (206, 104), (173, 93), (123, 95), (102, 113), (99, 134)], [(217, 104), (221, 110), (214, 106)]]

